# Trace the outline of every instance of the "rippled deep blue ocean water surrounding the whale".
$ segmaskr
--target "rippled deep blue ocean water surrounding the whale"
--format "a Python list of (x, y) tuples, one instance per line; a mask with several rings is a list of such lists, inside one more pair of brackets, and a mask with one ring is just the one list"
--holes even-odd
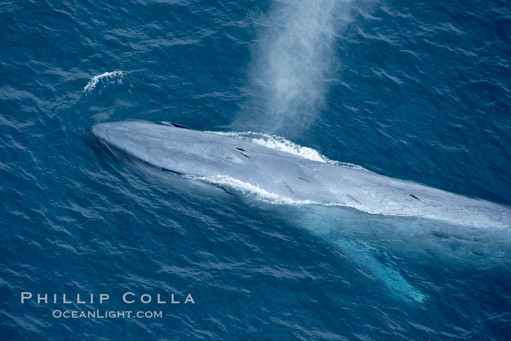
[[(88, 138), (275, 134), (511, 206), (508, 2), (4, 0), (0, 23), (2, 339), (509, 339), (509, 229), (261, 200)], [(52, 316), (96, 309), (162, 317)]]

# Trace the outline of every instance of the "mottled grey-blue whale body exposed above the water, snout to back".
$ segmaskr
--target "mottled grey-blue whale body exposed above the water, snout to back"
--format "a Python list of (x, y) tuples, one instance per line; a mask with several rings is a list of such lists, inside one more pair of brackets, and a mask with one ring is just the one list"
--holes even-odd
[(145, 121), (91, 132), (146, 163), (182, 175), (228, 176), (282, 197), (418, 216), (453, 224), (511, 226), (511, 208), (361, 169), (311, 161), (249, 141)]

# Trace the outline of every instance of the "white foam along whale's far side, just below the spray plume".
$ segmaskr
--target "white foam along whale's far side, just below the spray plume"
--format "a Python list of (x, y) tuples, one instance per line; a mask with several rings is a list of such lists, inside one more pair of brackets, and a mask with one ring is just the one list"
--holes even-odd
[(282, 151), (291, 153), (293, 155), (297, 155), (297, 156), (306, 158), (307, 160), (324, 162), (327, 164), (337, 165), (337, 166), (341, 166), (341, 167), (356, 168), (356, 169), (361, 169), (361, 170), (367, 171), (367, 169), (365, 169), (362, 166), (354, 165), (351, 163), (330, 160), (328, 157), (322, 155), (321, 153), (319, 153), (317, 150), (315, 150), (313, 148), (300, 146), (294, 142), (286, 140), (283, 137), (280, 137), (277, 135), (269, 135), (269, 134), (252, 132), (252, 131), (243, 131), (243, 132), (205, 131), (205, 132), (222, 135), (222, 136), (227, 136), (230, 138), (250, 141), (257, 145), (271, 148), (271, 149), (282, 150)]

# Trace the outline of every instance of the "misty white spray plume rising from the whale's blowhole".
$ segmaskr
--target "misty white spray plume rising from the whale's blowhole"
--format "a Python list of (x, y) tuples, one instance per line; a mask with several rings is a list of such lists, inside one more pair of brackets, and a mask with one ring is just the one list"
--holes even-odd
[[(301, 130), (324, 106), (339, 62), (335, 41), (349, 22), (346, 0), (281, 0), (257, 24), (245, 123)], [(255, 111), (255, 112), (254, 112)]]

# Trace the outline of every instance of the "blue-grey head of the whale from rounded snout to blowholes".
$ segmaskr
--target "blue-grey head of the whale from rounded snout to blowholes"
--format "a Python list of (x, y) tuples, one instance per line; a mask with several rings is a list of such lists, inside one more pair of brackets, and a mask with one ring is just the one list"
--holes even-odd
[(218, 175), (251, 160), (245, 141), (233, 144), (232, 139), (179, 125), (108, 122), (92, 126), (91, 133), (112, 150), (177, 174)]

